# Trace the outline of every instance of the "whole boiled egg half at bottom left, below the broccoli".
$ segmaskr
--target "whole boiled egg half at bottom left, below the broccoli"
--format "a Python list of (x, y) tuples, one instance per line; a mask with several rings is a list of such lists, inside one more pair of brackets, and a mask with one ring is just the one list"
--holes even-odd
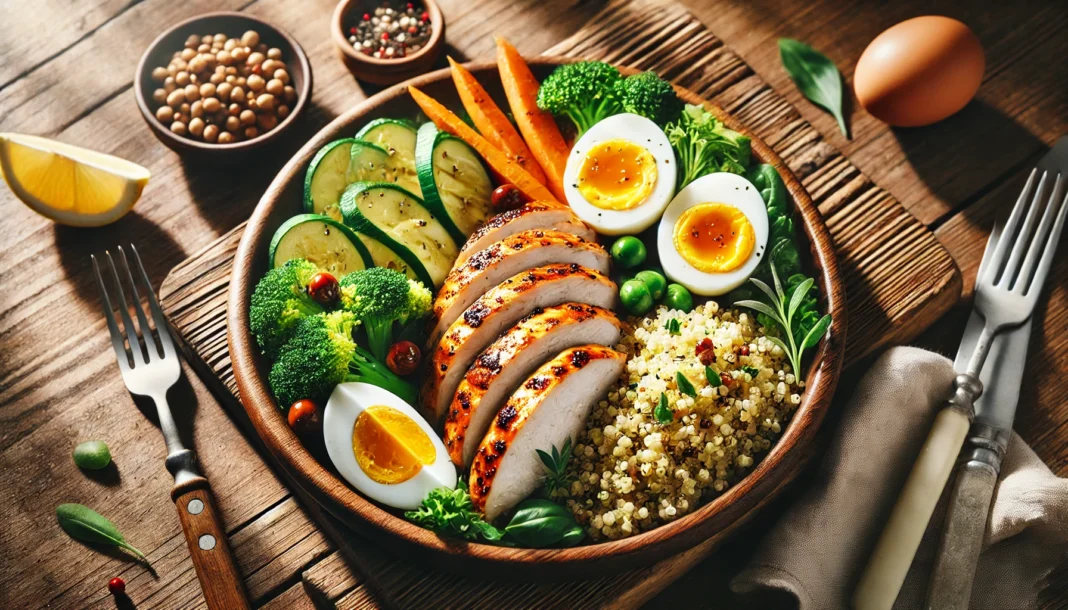
[(327, 454), (361, 494), (414, 510), (437, 487), (456, 487), (445, 444), (415, 409), (370, 384), (339, 384), (323, 413)]

